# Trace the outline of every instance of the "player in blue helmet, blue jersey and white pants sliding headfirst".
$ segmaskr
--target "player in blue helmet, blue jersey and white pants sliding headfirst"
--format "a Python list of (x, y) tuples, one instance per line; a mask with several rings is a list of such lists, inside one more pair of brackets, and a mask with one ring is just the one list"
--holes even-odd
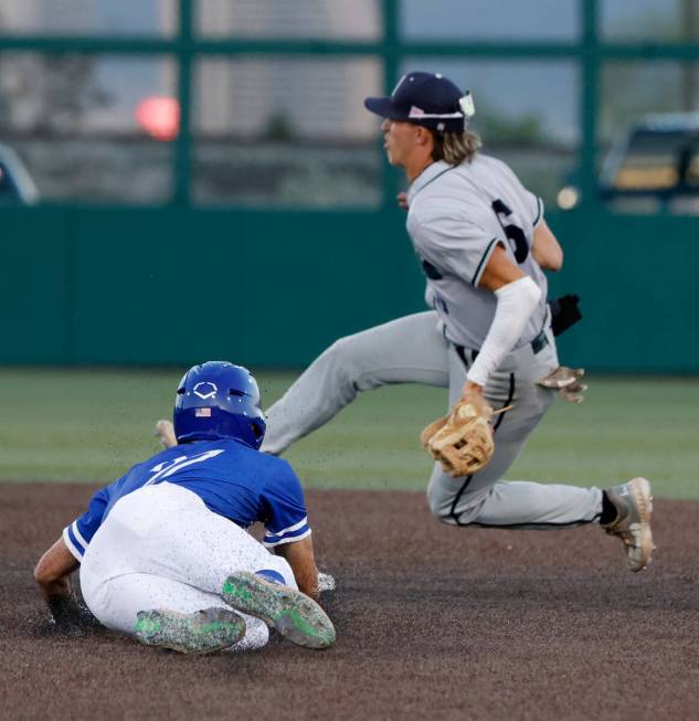
[[(180, 382), (177, 445), (102, 488), (34, 571), (56, 623), (87, 607), (150, 646), (210, 654), (260, 648), (268, 626), (309, 648), (335, 628), (318, 595), (304, 494), (292, 467), (260, 453), (265, 417), (250, 372), (194, 365)], [(264, 523), (257, 542), (245, 529)], [(272, 551), (272, 552), (271, 552)]]

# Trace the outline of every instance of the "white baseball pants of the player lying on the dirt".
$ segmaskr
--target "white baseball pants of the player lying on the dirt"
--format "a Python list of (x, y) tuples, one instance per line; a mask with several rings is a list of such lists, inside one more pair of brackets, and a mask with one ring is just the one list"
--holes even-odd
[[(296, 589), (289, 564), (190, 490), (162, 483), (116, 502), (93, 537), (81, 564), (85, 603), (107, 628), (134, 634), (139, 611), (193, 613), (232, 608), (221, 598), (236, 571), (272, 570)], [(269, 632), (245, 618), (245, 636), (231, 650), (260, 648)]]

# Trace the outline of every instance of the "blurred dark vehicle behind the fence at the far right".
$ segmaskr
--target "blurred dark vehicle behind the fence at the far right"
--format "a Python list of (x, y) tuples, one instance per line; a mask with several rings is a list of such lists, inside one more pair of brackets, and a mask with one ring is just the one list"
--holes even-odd
[[(597, 191), (621, 212), (699, 214), (699, 113), (648, 115), (634, 123), (612, 144)], [(579, 204), (574, 176), (557, 202), (562, 210)]]

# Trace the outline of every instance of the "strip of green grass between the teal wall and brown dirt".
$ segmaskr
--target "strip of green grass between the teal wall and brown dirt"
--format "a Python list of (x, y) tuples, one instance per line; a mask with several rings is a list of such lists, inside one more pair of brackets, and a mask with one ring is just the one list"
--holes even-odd
[[(268, 405), (293, 373), (260, 373)], [(0, 479), (106, 484), (155, 453), (178, 371), (0, 369)], [(509, 479), (607, 486), (635, 475), (655, 495), (699, 498), (699, 379), (591, 378), (585, 403), (557, 402)], [(286, 454), (309, 487), (424, 489), (417, 435), (445, 393), (415, 385), (366, 393)]]

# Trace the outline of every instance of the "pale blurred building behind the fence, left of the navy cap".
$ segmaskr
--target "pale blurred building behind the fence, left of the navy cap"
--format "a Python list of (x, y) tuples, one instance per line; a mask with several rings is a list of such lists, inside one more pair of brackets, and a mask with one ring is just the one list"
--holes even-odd
[[(377, 38), (374, 0), (208, 0), (199, 32), (213, 38)], [(375, 123), (364, 112), (379, 92), (372, 60), (212, 59), (198, 66), (197, 128), (204, 135), (288, 132), (314, 137), (366, 137)]]

